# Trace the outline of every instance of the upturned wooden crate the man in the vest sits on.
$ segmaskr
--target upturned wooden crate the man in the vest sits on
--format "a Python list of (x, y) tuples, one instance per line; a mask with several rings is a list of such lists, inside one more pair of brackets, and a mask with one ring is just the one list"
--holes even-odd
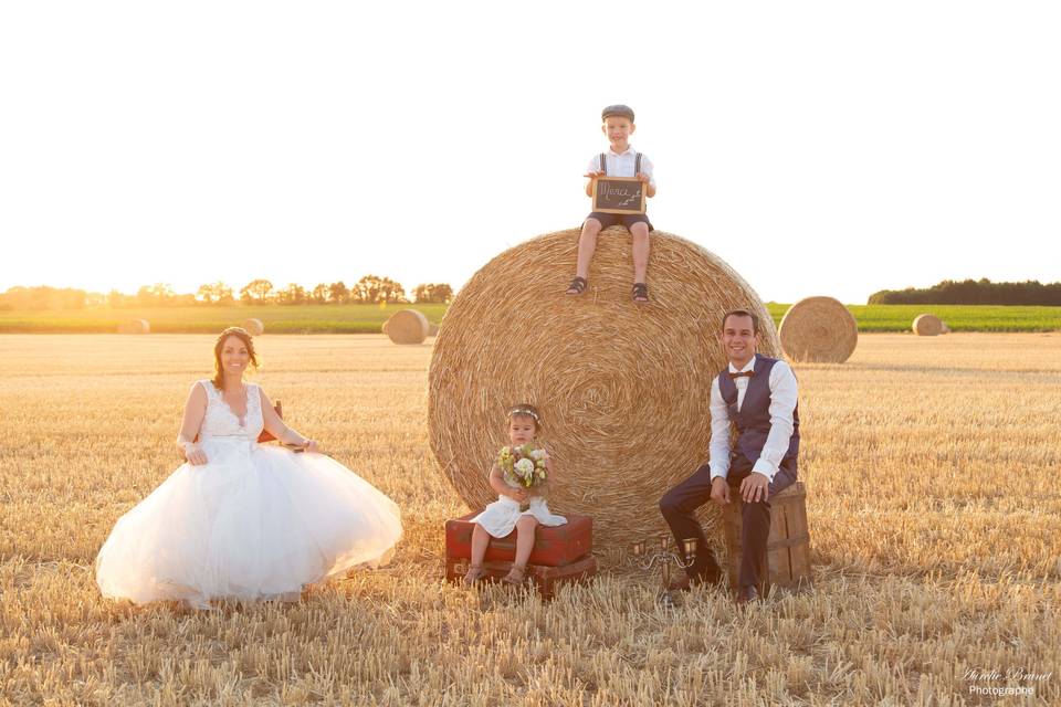
[[(729, 489), (729, 504), (722, 516), (728, 555), (729, 587), (737, 587), (740, 572), (740, 495)], [(798, 590), (810, 585), (810, 534), (807, 530), (807, 488), (796, 482), (771, 496), (770, 535), (766, 546), (766, 564), (759, 592), (765, 597), (770, 587)]]

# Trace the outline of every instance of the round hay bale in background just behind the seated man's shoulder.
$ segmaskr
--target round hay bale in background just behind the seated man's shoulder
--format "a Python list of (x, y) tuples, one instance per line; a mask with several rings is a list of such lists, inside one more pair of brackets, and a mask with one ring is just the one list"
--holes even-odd
[(838, 299), (807, 297), (785, 313), (778, 336), (792, 361), (843, 363), (859, 342), (859, 325)]

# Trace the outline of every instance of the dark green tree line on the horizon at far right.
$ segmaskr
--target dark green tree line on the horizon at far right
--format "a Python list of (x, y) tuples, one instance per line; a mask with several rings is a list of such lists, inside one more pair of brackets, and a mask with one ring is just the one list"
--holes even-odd
[(992, 283), (980, 279), (944, 279), (932, 287), (882, 289), (870, 295), (871, 305), (1025, 305), (1061, 306), (1061, 283), (1037, 279)]

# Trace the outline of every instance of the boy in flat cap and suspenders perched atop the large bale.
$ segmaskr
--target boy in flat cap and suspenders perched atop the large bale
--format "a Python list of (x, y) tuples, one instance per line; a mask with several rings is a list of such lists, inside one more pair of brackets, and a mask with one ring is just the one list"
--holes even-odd
[[(593, 196), (593, 177), (637, 177), (644, 184), (645, 196), (655, 196), (655, 180), (652, 178), (652, 162), (648, 157), (633, 151), (630, 136), (637, 129), (633, 124), (633, 110), (629, 106), (608, 106), (600, 114), (600, 130), (608, 137), (611, 149), (595, 155), (586, 171), (586, 196)], [(649, 232), (652, 224), (643, 213), (621, 214), (593, 211), (582, 222), (582, 233), (578, 236), (578, 264), (575, 278), (567, 287), (568, 295), (580, 295), (589, 284), (589, 262), (597, 250), (597, 234), (610, 225), (621, 223), (633, 236), (633, 300), (647, 303), (649, 286), (645, 272), (649, 268)]]

